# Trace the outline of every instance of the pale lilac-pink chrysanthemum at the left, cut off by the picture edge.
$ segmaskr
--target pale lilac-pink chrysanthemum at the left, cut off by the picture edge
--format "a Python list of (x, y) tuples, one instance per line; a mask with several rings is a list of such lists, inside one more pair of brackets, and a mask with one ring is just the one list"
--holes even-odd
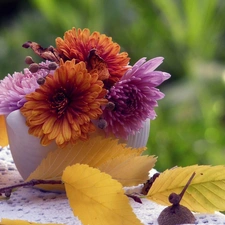
[[(50, 61), (42, 62), (39, 65), (46, 67)], [(25, 95), (35, 91), (39, 87), (38, 78), (43, 78), (49, 73), (47, 69), (39, 69), (36, 73), (31, 73), (29, 69), (24, 72), (8, 74), (0, 81), (0, 115), (20, 109), (26, 102)]]

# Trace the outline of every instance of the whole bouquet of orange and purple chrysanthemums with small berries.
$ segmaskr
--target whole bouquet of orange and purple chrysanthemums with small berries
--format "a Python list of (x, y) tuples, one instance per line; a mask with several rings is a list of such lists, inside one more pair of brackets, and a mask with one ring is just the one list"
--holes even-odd
[[(88, 141), (99, 130), (99, 135), (121, 141), (137, 139), (138, 134), (140, 139), (144, 124), (155, 119), (154, 108), (164, 97), (156, 87), (170, 77), (155, 71), (162, 57), (141, 58), (132, 66), (112, 38), (75, 28), (56, 38), (56, 47), (43, 48), (31, 41), (23, 47), (31, 48), (42, 62), (27, 56), (28, 68), (1, 81), (0, 114), (10, 117), (19, 112), (26, 132), (42, 146), (55, 143), (65, 148)], [(14, 135), (26, 142), (19, 137), (21, 132), (18, 128)]]

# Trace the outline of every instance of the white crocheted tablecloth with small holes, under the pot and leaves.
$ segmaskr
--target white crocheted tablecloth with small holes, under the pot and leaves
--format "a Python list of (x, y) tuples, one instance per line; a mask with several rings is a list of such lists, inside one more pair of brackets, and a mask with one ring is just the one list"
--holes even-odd
[[(13, 162), (9, 147), (0, 147), (0, 187), (23, 182)], [(139, 187), (126, 189), (137, 192)], [(157, 218), (165, 208), (149, 200), (142, 204), (130, 199), (134, 213), (145, 225), (157, 225)], [(221, 213), (195, 214), (196, 224), (224, 224), (225, 216)], [(20, 219), (39, 223), (63, 223), (82, 225), (73, 215), (65, 193), (43, 192), (35, 188), (19, 188), (8, 200), (0, 201), (0, 219)], [(94, 225), (94, 224), (91, 224)]]

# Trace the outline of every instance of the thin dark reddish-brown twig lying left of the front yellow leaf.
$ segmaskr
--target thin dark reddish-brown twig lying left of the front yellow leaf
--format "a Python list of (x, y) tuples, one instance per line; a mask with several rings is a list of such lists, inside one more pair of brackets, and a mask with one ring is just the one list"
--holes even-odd
[(5, 194), (6, 197), (10, 197), (12, 190), (14, 188), (19, 188), (19, 187), (33, 187), (35, 185), (39, 185), (39, 184), (62, 184), (61, 180), (30, 180), (24, 183), (20, 183), (20, 184), (15, 184), (15, 185), (11, 185), (8, 187), (4, 187), (4, 188), (0, 188), (0, 195)]

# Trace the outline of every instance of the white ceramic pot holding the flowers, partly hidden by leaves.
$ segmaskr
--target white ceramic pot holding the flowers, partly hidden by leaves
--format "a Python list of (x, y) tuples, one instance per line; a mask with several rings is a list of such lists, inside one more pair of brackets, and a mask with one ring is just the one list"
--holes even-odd
[[(20, 110), (13, 111), (6, 117), (6, 125), (13, 160), (22, 178), (26, 180), (57, 146), (55, 143), (42, 146), (39, 138), (28, 134), (28, 127)], [(127, 145), (135, 148), (146, 146), (149, 130), (150, 120), (147, 120), (140, 132), (129, 136)]]

